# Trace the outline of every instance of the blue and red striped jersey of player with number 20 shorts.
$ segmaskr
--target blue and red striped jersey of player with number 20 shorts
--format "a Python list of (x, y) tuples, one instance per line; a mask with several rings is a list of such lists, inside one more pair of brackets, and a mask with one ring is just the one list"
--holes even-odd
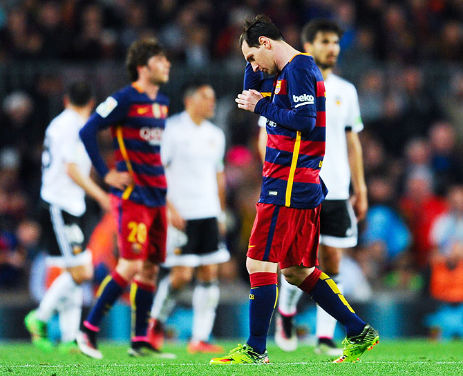
[(169, 99), (158, 92), (153, 100), (135, 84), (126, 86), (97, 107), (79, 132), (95, 169), (108, 172), (98, 145), (97, 132), (110, 128), (115, 168), (131, 174), (134, 186), (126, 190), (111, 187), (111, 193), (138, 204), (155, 207), (166, 204), (167, 182), (160, 157), (160, 142), (169, 110)]

